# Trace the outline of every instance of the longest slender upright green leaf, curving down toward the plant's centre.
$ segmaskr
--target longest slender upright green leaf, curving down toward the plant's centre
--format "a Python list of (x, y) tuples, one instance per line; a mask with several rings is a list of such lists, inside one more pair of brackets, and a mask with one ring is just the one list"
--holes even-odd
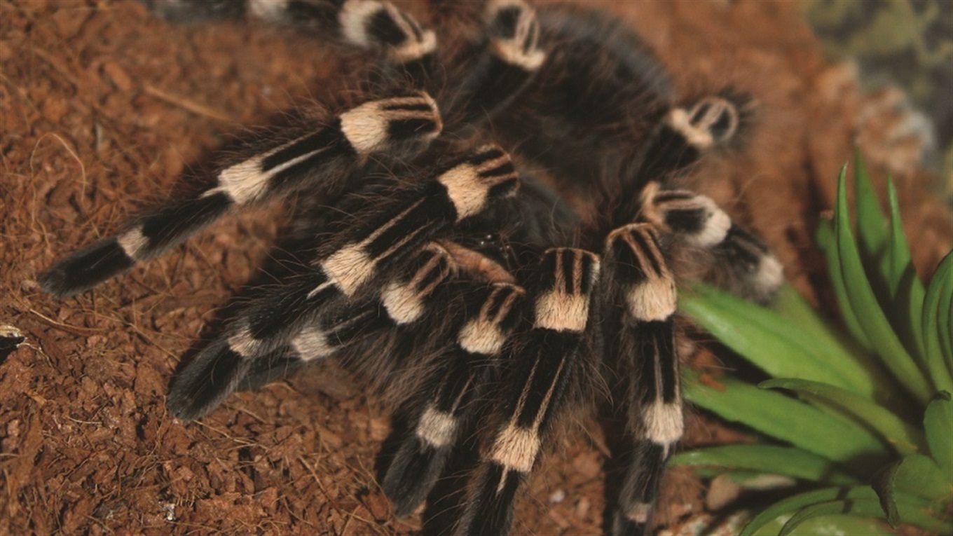
[(834, 234), (837, 239), (838, 257), (841, 259), (841, 276), (847, 299), (857, 316), (867, 340), (877, 348), (883, 364), (897, 377), (907, 391), (924, 405), (932, 396), (932, 386), (923, 378), (923, 373), (903, 348), (893, 328), (883, 314), (874, 291), (863, 269), (857, 243), (850, 229), (847, 214), (847, 193), (844, 175), (838, 181), (837, 209), (834, 216)]

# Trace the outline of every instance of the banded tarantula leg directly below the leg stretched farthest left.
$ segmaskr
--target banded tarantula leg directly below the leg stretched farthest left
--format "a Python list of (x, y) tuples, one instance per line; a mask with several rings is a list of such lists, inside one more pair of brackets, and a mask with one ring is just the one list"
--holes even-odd
[[(187, 380), (178, 392), (200, 392), (195, 384), (208, 376), (205, 371), (213, 370), (223, 378), (213, 381), (214, 396), (202, 395), (203, 401), (209, 399), (205, 402), (183, 396), (182, 402), (173, 403), (171, 396), (173, 413), (190, 419), (207, 413), (235, 390), (252, 361), (286, 344), (294, 345), (294, 340), (319, 353), (327, 334), (314, 327), (314, 319), (367, 299), (369, 293), (372, 298), (379, 294), (389, 315), (420, 314), (413, 302), (403, 298), (403, 287), (385, 286), (380, 275), (390, 274), (424, 242), (456, 221), (478, 214), (496, 198), (512, 194), (516, 187), (517, 172), (509, 156), (488, 145), (458, 158), (432, 180), (395, 192), (395, 200), (383, 210), (368, 199), (367, 211), (355, 217), (355, 224), (328, 255), (320, 256), (290, 283), (253, 300), (183, 370)], [(341, 332), (335, 337), (345, 336)]]

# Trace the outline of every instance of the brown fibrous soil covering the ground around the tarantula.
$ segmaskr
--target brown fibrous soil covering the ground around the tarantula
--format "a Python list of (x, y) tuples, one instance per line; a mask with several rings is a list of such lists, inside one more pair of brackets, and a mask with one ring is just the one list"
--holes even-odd
[[(810, 242), (854, 136), (895, 174), (918, 267), (950, 249), (949, 215), (915, 172), (919, 142), (893, 135), (891, 96), (862, 95), (849, 70), (826, 65), (791, 3), (603, 7), (644, 34), (686, 92), (733, 84), (758, 96), (751, 147), (703, 188), (760, 230), (801, 290), (826, 294)], [(393, 518), (375, 484), (386, 410), (340, 372), (233, 396), (201, 423), (166, 413), (175, 365), (267, 251), (267, 214), (216, 224), (75, 299), (36, 283), (172, 191), (219, 136), (320, 100), (333, 72), (320, 43), (280, 29), (175, 27), (132, 2), (0, 3), (0, 324), (27, 336), (0, 363), (0, 533), (418, 529)], [(692, 442), (719, 435), (689, 421)], [(560, 440), (520, 501), (517, 533), (598, 533), (604, 450), (595, 431)], [(700, 507), (685, 482), (663, 511)]]

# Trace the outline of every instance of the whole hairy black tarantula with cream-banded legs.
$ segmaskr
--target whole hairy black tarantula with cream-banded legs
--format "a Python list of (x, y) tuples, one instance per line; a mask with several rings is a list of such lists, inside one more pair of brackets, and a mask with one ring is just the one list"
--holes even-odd
[(607, 531), (648, 531), (683, 427), (679, 259), (750, 299), (781, 283), (759, 238), (680, 185), (742, 143), (752, 98), (676, 98), (637, 35), (572, 6), (434, 0), (429, 30), (375, 0), (152, 4), (294, 23), (375, 62), (360, 101), (250, 142), (43, 289), (70, 297), (284, 198), (291, 255), (176, 375), (174, 416), (338, 357), (395, 397), (381, 484), (396, 515), (429, 499), (454, 534), (501, 534), (560, 420), (597, 405), (627, 467)]

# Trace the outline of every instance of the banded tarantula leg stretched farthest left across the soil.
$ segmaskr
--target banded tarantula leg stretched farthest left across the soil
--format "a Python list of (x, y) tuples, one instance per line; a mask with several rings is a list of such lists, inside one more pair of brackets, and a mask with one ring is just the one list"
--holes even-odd
[(426, 93), (364, 103), (324, 128), (226, 167), (197, 195), (140, 216), (117, 236), (60, 259), (40, 276), (40, 284), (57, 298), (79, 294), (157, 257), (235, 207), (319, 180), (325, 191), (346, 188), (342, 179), (369, 156), (416, 155), (440, 129), (436, 103)]

